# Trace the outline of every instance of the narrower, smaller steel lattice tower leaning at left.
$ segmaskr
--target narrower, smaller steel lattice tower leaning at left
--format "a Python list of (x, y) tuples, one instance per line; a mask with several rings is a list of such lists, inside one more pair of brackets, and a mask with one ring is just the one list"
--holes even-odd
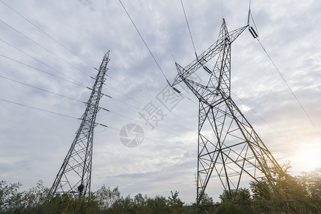
[(101, 89), (106, 81), (109, 51), (103, 56), (96, 81), (91, 89), (91, 96), (86, 103), (86, 110), (81, 117), (81, 125), (76, 132), (76, 138), (71, 144), (66, 158), (52, 185), (49, 197), (56, 194), (86, 195), (91, 190), (91, 162), (93, 155), (93, 128), (96, 127), (96, 115), (99, 111), (99, 100), (103, 96)]

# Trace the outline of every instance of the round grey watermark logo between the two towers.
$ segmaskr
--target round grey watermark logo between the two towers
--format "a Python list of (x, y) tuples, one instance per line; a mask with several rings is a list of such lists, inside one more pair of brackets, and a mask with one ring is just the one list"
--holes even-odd
[(121, 128), (119, 138), (124, 146), (130, 148), (137, 147), (141, 144), (141, 142), (143, 142), (144, 139), (143, 128), (135, 123), (128, 123)]

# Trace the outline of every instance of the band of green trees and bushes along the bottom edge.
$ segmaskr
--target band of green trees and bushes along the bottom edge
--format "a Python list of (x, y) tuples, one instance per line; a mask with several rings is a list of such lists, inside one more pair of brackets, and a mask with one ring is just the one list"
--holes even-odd
[(220, 203), (204, 193), (201, 206), (185, 206), (178, 191), (165, 198), (149, 198), (138, 193), (123, 197), (116, 188), (103, 185), (90, 195), (56, 195), (48, 200), (49, 188), (41, 180), (36, 187), (19, 191), (20, 183), (0, 181), (0, 213), (320, 213), (321, 168), (292, 177), (289, 164), (282, 170), (270, 169), (272, 183), (267, 179), (251, 181), (250, 189), (224, 190)]

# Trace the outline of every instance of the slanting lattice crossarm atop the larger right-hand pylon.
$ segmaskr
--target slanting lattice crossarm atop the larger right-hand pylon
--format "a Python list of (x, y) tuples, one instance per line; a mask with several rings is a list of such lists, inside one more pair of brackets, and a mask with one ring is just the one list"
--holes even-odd
[[(218, 40), (213, 45), (211, 45), (208, 49), (206, 49), (199, 56), (196, 56), (196, 58), (191, 63), (189, 63), (188, 66), (185, 66), (185, 68), (183, 68), (183, 72), (178, 73), (178, 75), (175, 77), (171, 86), (175, 86), (176, 84), (183, 81), (184, 78), (188, 78), (188, 76), (192, 75), (195, 71), (198, 70), (198, 68), (203, 67), (205, 65), (205, 63), (210, 61), (211, 58), (213, 58), (218, 53), (220, 53), (221, 46), (222, 46), (225, 39), (229, 39), (230, 44), (232, 44), (233, 41), (235, 41), (235, 39), (237, 39), (238, 36), (240, 36), (240, 34), (242, 34), (242, 32), (247, 27), (248, 27), (248, 25), (243, 26), (239, 29), (235, 29), (230, 32), (226, 32), (223, 35), (220, 35), (220, 36), (223, 36), (223, 38), (218, 38)], [(223, 19), (223, 23), (221, 26), (221, 31), (222, 31), (222, 29), (226, 29), (226, 24), (225, 24), (224, 19)]]

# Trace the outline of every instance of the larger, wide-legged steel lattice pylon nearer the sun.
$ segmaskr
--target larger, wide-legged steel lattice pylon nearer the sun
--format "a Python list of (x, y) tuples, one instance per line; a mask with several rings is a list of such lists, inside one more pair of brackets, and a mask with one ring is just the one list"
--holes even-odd
[[(224, 190), (238, 190), (241, 179), (274, 185), (270, 168), (280, 170), (253, 127), (230, 96), (231, 44), (248, 26), (228, 32), (223, 19), (218, 40), (185, 68), (176, 63), (178, 75), (172, 86), (183, 81), (199, 101), (197, 203), (200, 205), (210, 178), (220, 180)], [(210, 70), (205, 64), (216, 58)], [(191, 78), (205, 70), (209, 79)]]

